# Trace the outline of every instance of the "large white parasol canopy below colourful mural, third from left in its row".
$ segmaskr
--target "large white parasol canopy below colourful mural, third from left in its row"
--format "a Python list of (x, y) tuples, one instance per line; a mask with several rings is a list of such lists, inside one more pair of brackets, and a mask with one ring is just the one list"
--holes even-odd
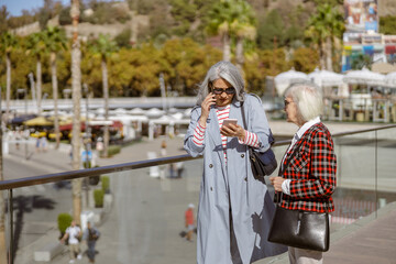
[(367, 68), (360, 70), (350, 70), (345, 74), (343, 80), (346, 84), (370, 85), (370, 86), (384, 86), (385, 76), (382, 74), (373, 73)]

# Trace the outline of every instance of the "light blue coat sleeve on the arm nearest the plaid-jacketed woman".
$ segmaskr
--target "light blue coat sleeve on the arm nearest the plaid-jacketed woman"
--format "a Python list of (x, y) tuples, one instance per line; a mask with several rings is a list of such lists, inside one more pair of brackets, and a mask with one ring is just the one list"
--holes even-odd
[(246, 105), (249, 110), (248, 131), (257, 135), (258, 147), (256, 147), (256, 151), (265, 152), (271, 147), (273, 138), (263, 103), (260, 98), (248, 95)]

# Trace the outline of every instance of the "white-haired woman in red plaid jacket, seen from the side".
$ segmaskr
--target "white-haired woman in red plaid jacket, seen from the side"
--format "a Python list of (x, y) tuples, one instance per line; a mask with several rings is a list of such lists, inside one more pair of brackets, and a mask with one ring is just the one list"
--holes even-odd
[[(334, 210), (337, 158), (331, 134), (319, 116), (322, 97), (310, 85), (295, 85), (285, 92), (287, 121), (299, 129), (286, 151), (280, 176), (270, 177), (282, 193), (280, 207), (329, 213)], [(322, 263), (322, 252), (289, 246), (292, 264)]]

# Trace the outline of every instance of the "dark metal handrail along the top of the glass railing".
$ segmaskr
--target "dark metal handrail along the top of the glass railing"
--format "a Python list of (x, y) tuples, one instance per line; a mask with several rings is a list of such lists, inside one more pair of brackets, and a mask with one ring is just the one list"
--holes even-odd
[[(339, 138), (339, 136), (344, 136), (344, 135), (373, 132), (373, 131), (392, 129), (392, 128), (396, 128), (396, 124), (387, 124), (387, 125), (375, 127), (372, 129), (334, 133), (332, 136)], [(278, 141), (273, 146), (287, 145), (287, 144), (290, 144), (290, 142), (292, 142), (292, 140)], [(108, 166), (95, 167), (95, 168), (85, 168), (85, 169), (67, 170), (67, 172), (55, 173), (55, 174), (45, 174), (45, 175), (24, 177), (24, 178), (19, 178), (19, 179), (2, 180), (2, 182), (0, 182), (0, 190), (21, 188), (21, 187), (28, 187), (28, 186), (33, 186), (33, 185), (50, 184), (50, 183), (56, 183), (56, 182), (62, 182), (62, 180), (85, 178), (85, 177), (108, 174), (108, 173), (117, 173), (117, 172), (123, 172), (123, 170), (130, 170), (130, 169), (136, 169), (136, 168), (145, 168), (145, 167), (157, 166), (157, 165), (169, 164), (169, 163), (186, 162), (186, 161), (198, 160), (202, 156), (191, 157), (188, 154), (185, 154), (185, 155), (178, 155), (178, 156), (161, 157), (161, 158), (138, 161), (138, 162), (131, 162), (131, 163), (121, 163), (121, 164), (108, 165)]]

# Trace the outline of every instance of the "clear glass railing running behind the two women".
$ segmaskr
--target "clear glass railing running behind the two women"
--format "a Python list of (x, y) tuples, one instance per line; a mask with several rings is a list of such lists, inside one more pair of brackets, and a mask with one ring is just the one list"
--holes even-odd
[[(332, 231), (396, 200), (396, 125), (334, 134), (334, 143), (338, 187)], [(274, 146), (278, 161), (288, 144)], [(184, 215), (189, 204), (197, 211), (201, 175), (201, 158), (180, 155), (2, 182), (0, 189), (7, 190), (9, 204), (10, 263), (45, 257), (68, 263), (67, 248), (58, 245), (57, 219), (61, 213), (72, 215), (75, 178), (88, 179), (81, 190), (81, 228), (89, 220), (101, 232), (97, 263), (195, 263), (196, 234), (193, 242), (185, 239)], [(103, 194), (102, 183), (95, 185), (95, 176), (109, 179), (102, 199), (97, 195)], [(87, 249), (85, 243), (80, 248)]]

